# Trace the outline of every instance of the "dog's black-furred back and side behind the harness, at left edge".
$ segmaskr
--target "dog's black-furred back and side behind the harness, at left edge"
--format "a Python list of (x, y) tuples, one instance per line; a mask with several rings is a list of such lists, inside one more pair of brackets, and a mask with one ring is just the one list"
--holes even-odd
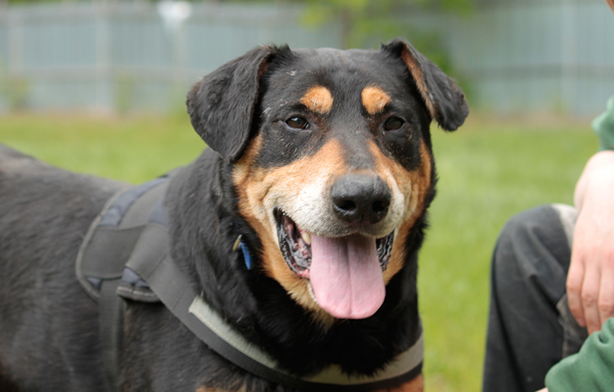
[(76, 280), (74, 260), (120, 186), (0, 145), (0, 391), (104, 387), (98, 311)]

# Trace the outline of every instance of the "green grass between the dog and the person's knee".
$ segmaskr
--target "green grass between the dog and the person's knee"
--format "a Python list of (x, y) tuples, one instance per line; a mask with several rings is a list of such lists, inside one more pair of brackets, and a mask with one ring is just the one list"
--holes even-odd
[(572, 203), (596, 151), (589, 122), (477, 122), (432, 130), (439, 173), (419, 259), (427, 391), (480, 391), (490, 258), (505, 221), (523, 209)]

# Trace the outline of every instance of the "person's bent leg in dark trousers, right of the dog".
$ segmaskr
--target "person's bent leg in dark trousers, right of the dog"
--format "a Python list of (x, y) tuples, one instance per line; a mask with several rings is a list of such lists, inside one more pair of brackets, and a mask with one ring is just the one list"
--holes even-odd
[(564, 341), (577, 328), (569, 327), (568, 311), (557, 309), (567, 306), (574, 219), (571, 207), (546, 205), (516, 215), (502, 230), (492, 260), (484, 392), (537, 391), (563, 347), (575, 350)]

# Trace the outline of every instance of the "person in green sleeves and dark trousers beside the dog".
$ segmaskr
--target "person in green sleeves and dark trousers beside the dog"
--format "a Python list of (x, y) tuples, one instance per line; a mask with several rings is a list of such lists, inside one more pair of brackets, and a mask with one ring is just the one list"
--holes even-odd
[(614, 96), (592, 126), (575, 208), (521, 212), (499, 236), (483, 392), (614, 391)]

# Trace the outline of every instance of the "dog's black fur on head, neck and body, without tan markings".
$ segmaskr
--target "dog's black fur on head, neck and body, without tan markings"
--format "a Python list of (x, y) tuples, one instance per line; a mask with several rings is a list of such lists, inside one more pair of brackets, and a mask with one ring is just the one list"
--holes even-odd
[[(241, 253), (231, 251), (242, 234), (254, 263), (262, 263), (257, 234), (236, 213), (233, 165), (262, 129), (268, 129), (259, 156), (263, 167), (282, 166), (317, 151), (326, 137), (323, 133), (280, 138), (275, 131), (276, 110), (281, 110), (284, 99), (304, 93), (306, 87), (286, 83), (284, 73), (347, 67), (352, 59), (364, 83), (330, 81), (340, 86), (335, 90), (340, 95), (352, 96), (376, 76), (382, 83), (401, 79), (395, 91), (398, 99), (415, 108), (415, 113), (406, 113), (412, 127), (405, 136), (388, 135), (377, 143), (407, 169), (416, 168), (417, 142), (426, 140), (430, 149), (430, 117), (407, 67), (390, 49), (396, 45), (400, 44), (393, 42), (380, 52), (349, 52), (347, 58), (325, 52), (313, 60), (315, 52), (308, 50), (258, 48), (206, 76), (187, 98), (192, 124), (212, 148), (182, 168), (170, 184), (166, 200), (173, 259), (216, 311), (296, 374), (309, 374), (332, 363), (349, 373), (371, 374), (415, 342), (419, 334), (417, 251), (427, 226), (426, 214), (405, 238), (405, 267), (386, 287), (381, 309), (371, 318), (325, 328), (290, 299), (278, 282), (258, 267), (248, 270)], [(460, 89), (450, 85), (438, 69), (425, 67), (427, 84), (434, 89), (441, 111), (437, 120), (445, 129), (458, 127), (466, 116), (466, 103), (446, 91)], [(326, 78), (334, 79), (335, 72), (313, 73), (313, 81)], [(327, 121), (357, 114), (364, 115), (331, 113), (320, 124), (327, 129), (339, 127), (342, 124)], [(359, 132), (378, 132), (372, 123)], [(354, 146), (352, 138), (343, 143), (355, 151), (364, 148)], [(291, 152), (280, 156), (280, 149)], [(353, 164), (366, 163), (357, 158)], [(434, 171), (431, 183), (435, 183)], [(74, 261), (89, 224), (120, 186), (0, 149), (0, 391), (106, 390), (98, 311), (79, 287)], [(426, 197), (427, 206), (433, 197), (434, 187)], [(228, 392), (243, 386), (255, 392), (292, 391), (229, 364), (161, 304), (129, 301), (125, 333), (122, 391), (187, 392), (202, 386)]]

